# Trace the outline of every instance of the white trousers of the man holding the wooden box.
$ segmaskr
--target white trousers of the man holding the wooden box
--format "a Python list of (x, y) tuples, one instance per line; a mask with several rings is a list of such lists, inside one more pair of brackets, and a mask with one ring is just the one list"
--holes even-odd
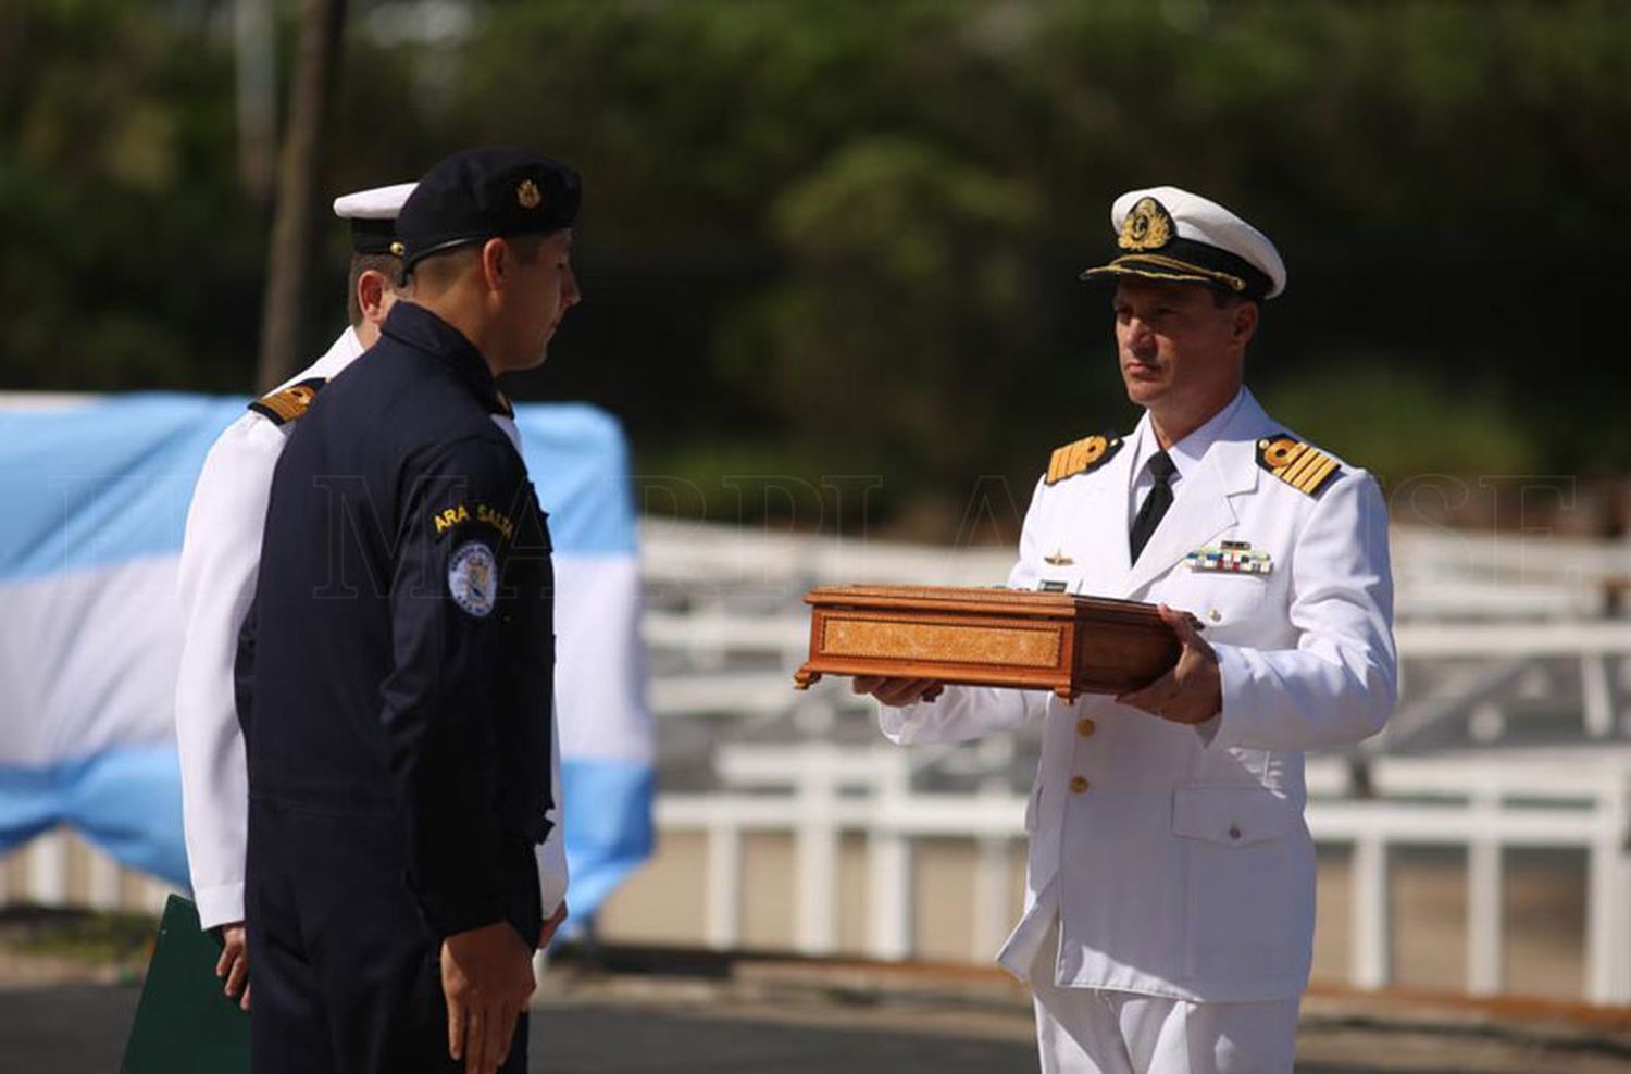
[(1187, 1002), (1059, 988), (1059, 921), (1031, 970), (1042, 1074), (1290, 1074), (1297, 999)]

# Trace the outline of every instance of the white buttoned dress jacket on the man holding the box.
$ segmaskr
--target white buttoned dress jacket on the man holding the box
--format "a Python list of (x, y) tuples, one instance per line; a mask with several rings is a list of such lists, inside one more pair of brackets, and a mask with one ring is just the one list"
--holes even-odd
[[(1094, 469), (1037, 484), (1010, 587), (1191, 611), (1218, 654), (1223, 707), (1186, 727), (1109, 696), (953, 686), (881, 712), (899, 743), (956, 742), (1041, 717), (1026, 810), (1026, 913), (998, 962), (1026, 979), (1049, 926), (1055, 983), (1207, 1001), (1297, 997), (1308, 983), (1315, 854), (1303, 751), (1355, 743), (1393, 711), (1398, 657), (1386, 508), (1342, 466), (1315, 495), (1259, 464), (1284, 432), (1241, 391), (1179, 461), (1174, 500), (1129, 562), (1134, 461), (1150, 419)], [(1186, 445), (1174, 445), (1181, 455)], [(1196, 569), (1246, 541), (1266, 574)]]

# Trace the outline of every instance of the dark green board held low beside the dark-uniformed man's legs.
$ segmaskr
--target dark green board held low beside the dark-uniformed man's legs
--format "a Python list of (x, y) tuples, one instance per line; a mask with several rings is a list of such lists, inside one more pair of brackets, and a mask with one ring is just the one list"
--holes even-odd
[(199, 927), (197, 906), (171, 895), (121, 1074), (248, 1074), (250, 1015), (222, 991), (219, 958), (220, 940)]

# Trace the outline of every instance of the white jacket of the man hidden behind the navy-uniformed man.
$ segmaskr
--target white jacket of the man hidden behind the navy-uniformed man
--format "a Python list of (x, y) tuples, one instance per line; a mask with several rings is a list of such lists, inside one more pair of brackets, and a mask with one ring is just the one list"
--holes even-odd
[[(329, 380), (362, 354), (354, 329), (289, 385)], [(285, 385), (287, 386), (287, 385)], [(507, 417), (494, 422), (520, 450), (520, 432)], [(210, 447), (192, 491), (181, 546), (179, 595), (186, 639), (176, 684), (176, 745), (181, 753), (181, 808), (188, 867), (199, 922), (206, 929), (243, 921), (243, 862), (250, 828), (250, 777), (233, 691), (238, 629), (254, 598), (261, 533), (272, 469), (289, 425), (248, 411)], [(556, 720), (558, 725), (558, 720)], [(566, 849), (561, 813), (561, 746), (555, 742), (555, 828), (538, 846), (538, 887), (545, 916), (566, 898)]]

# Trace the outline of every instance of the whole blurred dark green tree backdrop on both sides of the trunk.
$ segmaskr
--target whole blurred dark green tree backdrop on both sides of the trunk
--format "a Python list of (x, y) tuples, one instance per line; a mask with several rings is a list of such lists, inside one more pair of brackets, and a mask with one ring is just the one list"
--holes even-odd
[[(1631, 464), (1628, 5), (551, 0), (378, 33), (411, 8), (354, 2), (328, 189), (478, 142), (579, 166), (587, 300), (517, 394), (623, 414), (643, 469), (1029, 487), (1135, 417), (1075, 274), (1158, 183), (1280, 244), (1251, 380), (1333, 451)], [(225, 13), (0, 11), (0, 385), (248, 386), (267, 217)]]

